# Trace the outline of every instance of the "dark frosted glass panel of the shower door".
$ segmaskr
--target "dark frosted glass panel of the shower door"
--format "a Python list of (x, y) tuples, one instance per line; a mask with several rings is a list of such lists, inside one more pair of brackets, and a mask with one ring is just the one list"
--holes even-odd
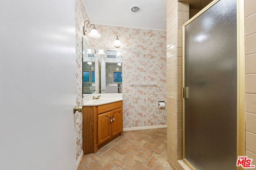
[(184, 25), (184, 160), (196, 170), (236, 170), (236, 0), (220, 0)]

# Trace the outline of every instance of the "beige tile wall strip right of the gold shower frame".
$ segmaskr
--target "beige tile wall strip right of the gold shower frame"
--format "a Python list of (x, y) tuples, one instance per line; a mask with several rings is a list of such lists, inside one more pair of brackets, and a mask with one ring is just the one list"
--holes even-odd
[[(246, 151), (256, 165), (256, 3), (245, 0), (245, 92), (246, 92)], [(253, 168), (256, 169), (256, 168)]]

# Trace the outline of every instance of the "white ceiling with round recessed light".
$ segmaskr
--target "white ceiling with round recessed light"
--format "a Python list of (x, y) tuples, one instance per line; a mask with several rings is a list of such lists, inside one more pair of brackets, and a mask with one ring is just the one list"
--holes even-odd
[[(82, 1), (92, 24), (166, 30), (166, 0)], [(140, 12), (132, 12), (133, 6)]]

